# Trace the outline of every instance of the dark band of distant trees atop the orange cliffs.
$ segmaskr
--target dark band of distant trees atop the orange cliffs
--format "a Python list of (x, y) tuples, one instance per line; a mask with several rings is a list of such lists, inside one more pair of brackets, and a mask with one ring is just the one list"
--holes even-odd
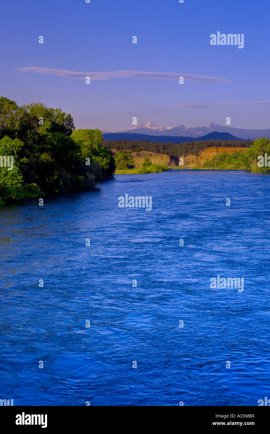
[(155, 154), (167, 154), (171, 156), (199, 155), (199, 153), (211, 146), (224, 146), (226, 148), (244, 147), (252, 145), (252, 141), (223, 141), (223, 140), (201, 140), (186, 141), (185, 143), (162, 143), (151, 142), (148, 140), (104, 140), (102, 145), (107, 149), (116, 149), (117, 151), (148, 151)]

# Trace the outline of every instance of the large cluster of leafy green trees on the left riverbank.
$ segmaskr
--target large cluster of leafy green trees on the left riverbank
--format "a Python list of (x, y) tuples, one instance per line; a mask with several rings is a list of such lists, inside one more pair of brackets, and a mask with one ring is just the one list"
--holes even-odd
[(111, 177), (115, 161), (102, 140), (97, 129), (75, 131), (61, 109), (0, 97), (0, 204), (87, 190)]

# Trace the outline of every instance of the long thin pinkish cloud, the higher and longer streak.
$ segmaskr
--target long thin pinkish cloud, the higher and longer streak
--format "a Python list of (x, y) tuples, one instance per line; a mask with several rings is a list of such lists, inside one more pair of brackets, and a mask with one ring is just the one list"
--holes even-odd
[(186, 81), (197, 82), (228, 82), (228, 79), (219, 77), (198, 76), (195, 74), (182, 74), (176, 72), (143, 72), (143, 71), (102, 71), (102, 72), (77, 72), (67, 69), (49, 69), (42, 66), (26, 66), (25, 68), (15, 68), (17, 71), (35, 72), (36, 74), (54, 74), (59, 77), (69, 79), (85, 80), (108, 80), (113, 78), (123, 79), (150, 79), (150, 80), (178, 80), (180, 76)]

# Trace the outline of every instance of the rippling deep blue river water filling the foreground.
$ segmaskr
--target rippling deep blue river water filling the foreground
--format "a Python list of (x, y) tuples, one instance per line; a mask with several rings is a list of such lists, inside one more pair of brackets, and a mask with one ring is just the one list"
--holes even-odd
[[(270, 398), (269, 192), (267, 174), (175, 170), (0, 208), (0, 398)], [(125, 194), (152, 210), (118, 207)], [(244, 291), (210, 288), (218, 275)]]

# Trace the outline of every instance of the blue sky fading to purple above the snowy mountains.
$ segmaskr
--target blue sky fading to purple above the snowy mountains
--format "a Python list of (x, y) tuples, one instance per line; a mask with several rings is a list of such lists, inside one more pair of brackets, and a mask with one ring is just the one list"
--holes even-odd
[[(229, 116), (232, 127), (270, 128), (269, 12), (268, 0), (2, 0), (0, 95), (61, 108), (76, 128), (124, 130), (134, 116), (166, 126)], [(244, 48), (211, 46), (218, 31), (244, 33)], [(184, 84), (136, 73), (85, 84), (84, 72), (113, 71), (175, 73)]]

